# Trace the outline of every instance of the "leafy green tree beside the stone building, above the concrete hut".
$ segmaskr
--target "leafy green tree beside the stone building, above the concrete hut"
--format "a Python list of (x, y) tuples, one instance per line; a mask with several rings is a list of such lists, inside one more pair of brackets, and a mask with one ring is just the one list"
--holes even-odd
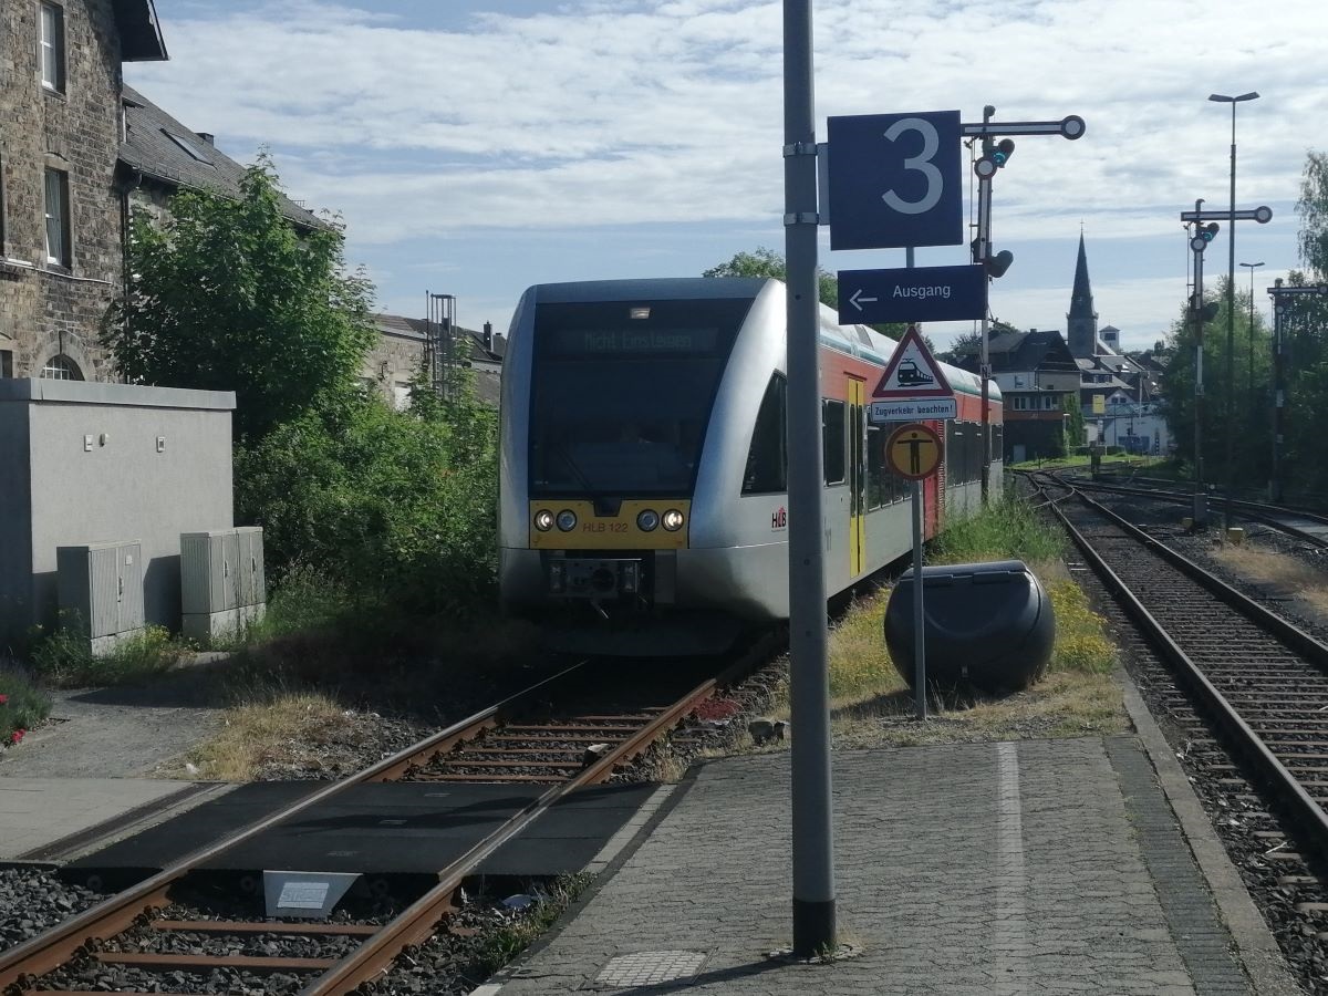
[(340, 228), (297, 234), (266, 155), (246, 170), (238, 201), (182, 191), (161, 224), (135, 214), (126, 271), (102, 336), (121, 373), (234, 390), (242, 441), (352, 382), (374, 341), (371, 286), (345, 272)]

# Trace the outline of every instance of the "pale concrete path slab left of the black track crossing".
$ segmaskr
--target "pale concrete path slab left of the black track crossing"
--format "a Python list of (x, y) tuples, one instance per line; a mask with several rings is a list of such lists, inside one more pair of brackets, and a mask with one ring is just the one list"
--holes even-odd
[(166, 803), (191, 786), (159, 778), (0, 777), (0, 861), (31, 859), (60, 839)]

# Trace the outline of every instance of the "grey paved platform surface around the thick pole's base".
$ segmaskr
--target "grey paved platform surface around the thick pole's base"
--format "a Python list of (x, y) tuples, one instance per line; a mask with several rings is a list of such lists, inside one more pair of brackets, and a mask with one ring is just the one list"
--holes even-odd
[[(845, 752), (834, 765), (838, 924), (858, 957), (766, 956), (791, 942), (791, 872), (788, 754), (762, 754), (705, 765), (502, 996), (1251, 992), (1133, 738)], [(697, 967), (635, 985), (606, 973), (648, 952)]]

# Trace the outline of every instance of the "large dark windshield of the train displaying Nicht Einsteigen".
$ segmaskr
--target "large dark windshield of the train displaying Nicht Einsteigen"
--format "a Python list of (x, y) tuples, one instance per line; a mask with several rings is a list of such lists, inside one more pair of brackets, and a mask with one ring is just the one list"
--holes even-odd
[(691, 494), (749, 297), (540, 304), (531, 495)]

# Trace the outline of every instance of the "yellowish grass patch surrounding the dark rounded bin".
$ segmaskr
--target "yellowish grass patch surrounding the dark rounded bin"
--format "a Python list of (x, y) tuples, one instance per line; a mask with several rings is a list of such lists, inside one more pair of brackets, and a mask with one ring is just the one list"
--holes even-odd
[[(837, 748), (1074, 737), (1127, 729), (1117, 651), (1104, 620), (1061, 563), (1064, 538), (1027, 502), (1013, 498), (951, 523), (930, 546), (930, 563), (1024, 560), (1056, 615), (1045, 679), (1004, 697), (969, 692), (936, 701), (916, 722), (914, 696), (886, 648), (888, 591), (862, 599), (830, 633), (831, 734)], [(912, 663), (907, 665), (910, 669)], [(788, 710), (781, 713), (788, 714)], [(794, 730), (794, 736), (797, 732)]]

